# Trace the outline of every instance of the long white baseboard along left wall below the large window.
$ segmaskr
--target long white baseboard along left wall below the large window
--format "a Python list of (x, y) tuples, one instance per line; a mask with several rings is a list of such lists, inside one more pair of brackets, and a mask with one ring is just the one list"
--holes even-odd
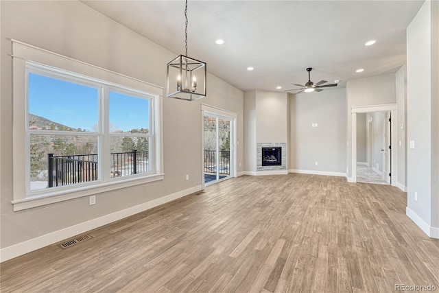
[(68, 228), (64, 228), (40, 237), (36, 237), (34, 239), (29, 239), (19, 244), (14, 244), (12, 246), (1, 248), (0, 262), (7, 261), (8, 259), (12, 259), (14, 257), (19, 257), (20, 255), (30, 253), (31, 251), (37, 250), (39, 248), (43, 248), (45, 246), (54, 244), (56, 242), (60, 242), (64, 239), (68, 239), (75, 235), (85, 233), (86, 231), (93, 230), (94, 228), (99, 228), (100, 226), (110, 224), (117, 220), (127, 218), (130, 215), (141, 213), (142, 211), (146, 211), (147, 209), (152, 209), (153, 207), (157, 207), (161, 204), (171, 202), (172, 200), (182, 198), (183, 196), (193, 194), (194, 192), (200, 190), (201, 190), (201, 185), (197, 185), (189, 189), (178, 191), (175, 194), (169, 194), (168, 196), (163, 196), (155, 200), (150, 200), (149, 202), (144, 202), (143, 204), (139, 204), (137, 206), (130, 207), (128, 209), (123, 209), (115, 213), (103, 215), (102, 217), (95, 218), (93, 220), (89, 220), (81, 224), (76, 224), (74, 226), (70, 226)]

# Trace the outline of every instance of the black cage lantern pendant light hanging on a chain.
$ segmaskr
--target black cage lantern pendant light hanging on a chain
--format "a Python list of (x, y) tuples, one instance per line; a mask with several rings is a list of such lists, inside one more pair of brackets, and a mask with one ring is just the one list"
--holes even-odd
[(194, 101), (206, 97), (206, 63), (187, 56), (187, 0), (185, 5), (185, 49), (167, 64), (167, 97)]

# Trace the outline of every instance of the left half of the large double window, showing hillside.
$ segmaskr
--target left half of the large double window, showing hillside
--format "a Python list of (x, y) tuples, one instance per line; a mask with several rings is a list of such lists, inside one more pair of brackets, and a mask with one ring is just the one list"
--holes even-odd
[(27, 65), (29, 196), (101, 178), (102, 91), (83, 78)]

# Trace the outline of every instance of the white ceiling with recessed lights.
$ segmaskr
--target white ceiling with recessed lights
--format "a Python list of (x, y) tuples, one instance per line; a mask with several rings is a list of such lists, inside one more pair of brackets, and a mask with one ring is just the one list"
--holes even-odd
[[(176, 56), (185, 54), (185, 1), (82, 3)], [(307, 82), (307, 67), (313, 67), (313, 82), (341, 80), (340, 88), (346, 80), (394, 73), (405, 63), (405, 29), (422, 4), (189, 1), (188, 55), (242, 91), (295, 89)], [(216, 45), (217, 38), (224, 45)], [(371, 39), (377, 43), (364, 46)], [(253, 71), (246, 70), (250, 66)], [(355, 73), (359, 68), (364, 72)]]

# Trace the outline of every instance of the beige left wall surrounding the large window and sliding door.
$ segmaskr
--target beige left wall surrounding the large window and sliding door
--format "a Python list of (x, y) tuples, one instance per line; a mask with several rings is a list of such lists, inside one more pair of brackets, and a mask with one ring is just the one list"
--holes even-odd
[[(237, 139), (244, 141), (244, 93), (209, 74), (205, 99), (197, 102), (163, 99), (165, 180), (97, 194), (97, 204), (93, 206), (89, 206), (88, 198), (84, 197), (12, 211), (12, 60), (8, 56), (11, 44), (6, 38), (15, 38), (163, 87), (166, 64), (180, 52), (167, 51), (79, 1), (0, 1), (0, 5), (1, 248), (169, 194), (198, 189), (202, 183), (201, 103), (237, 113)], [(182, 144), (185, 147), (181, 147)], [(241, 143), (237, 150), (238, 161), (242, 161), (243, 154)], [(185, 174), (190, 175), (190, 180), (185, 180)]]

